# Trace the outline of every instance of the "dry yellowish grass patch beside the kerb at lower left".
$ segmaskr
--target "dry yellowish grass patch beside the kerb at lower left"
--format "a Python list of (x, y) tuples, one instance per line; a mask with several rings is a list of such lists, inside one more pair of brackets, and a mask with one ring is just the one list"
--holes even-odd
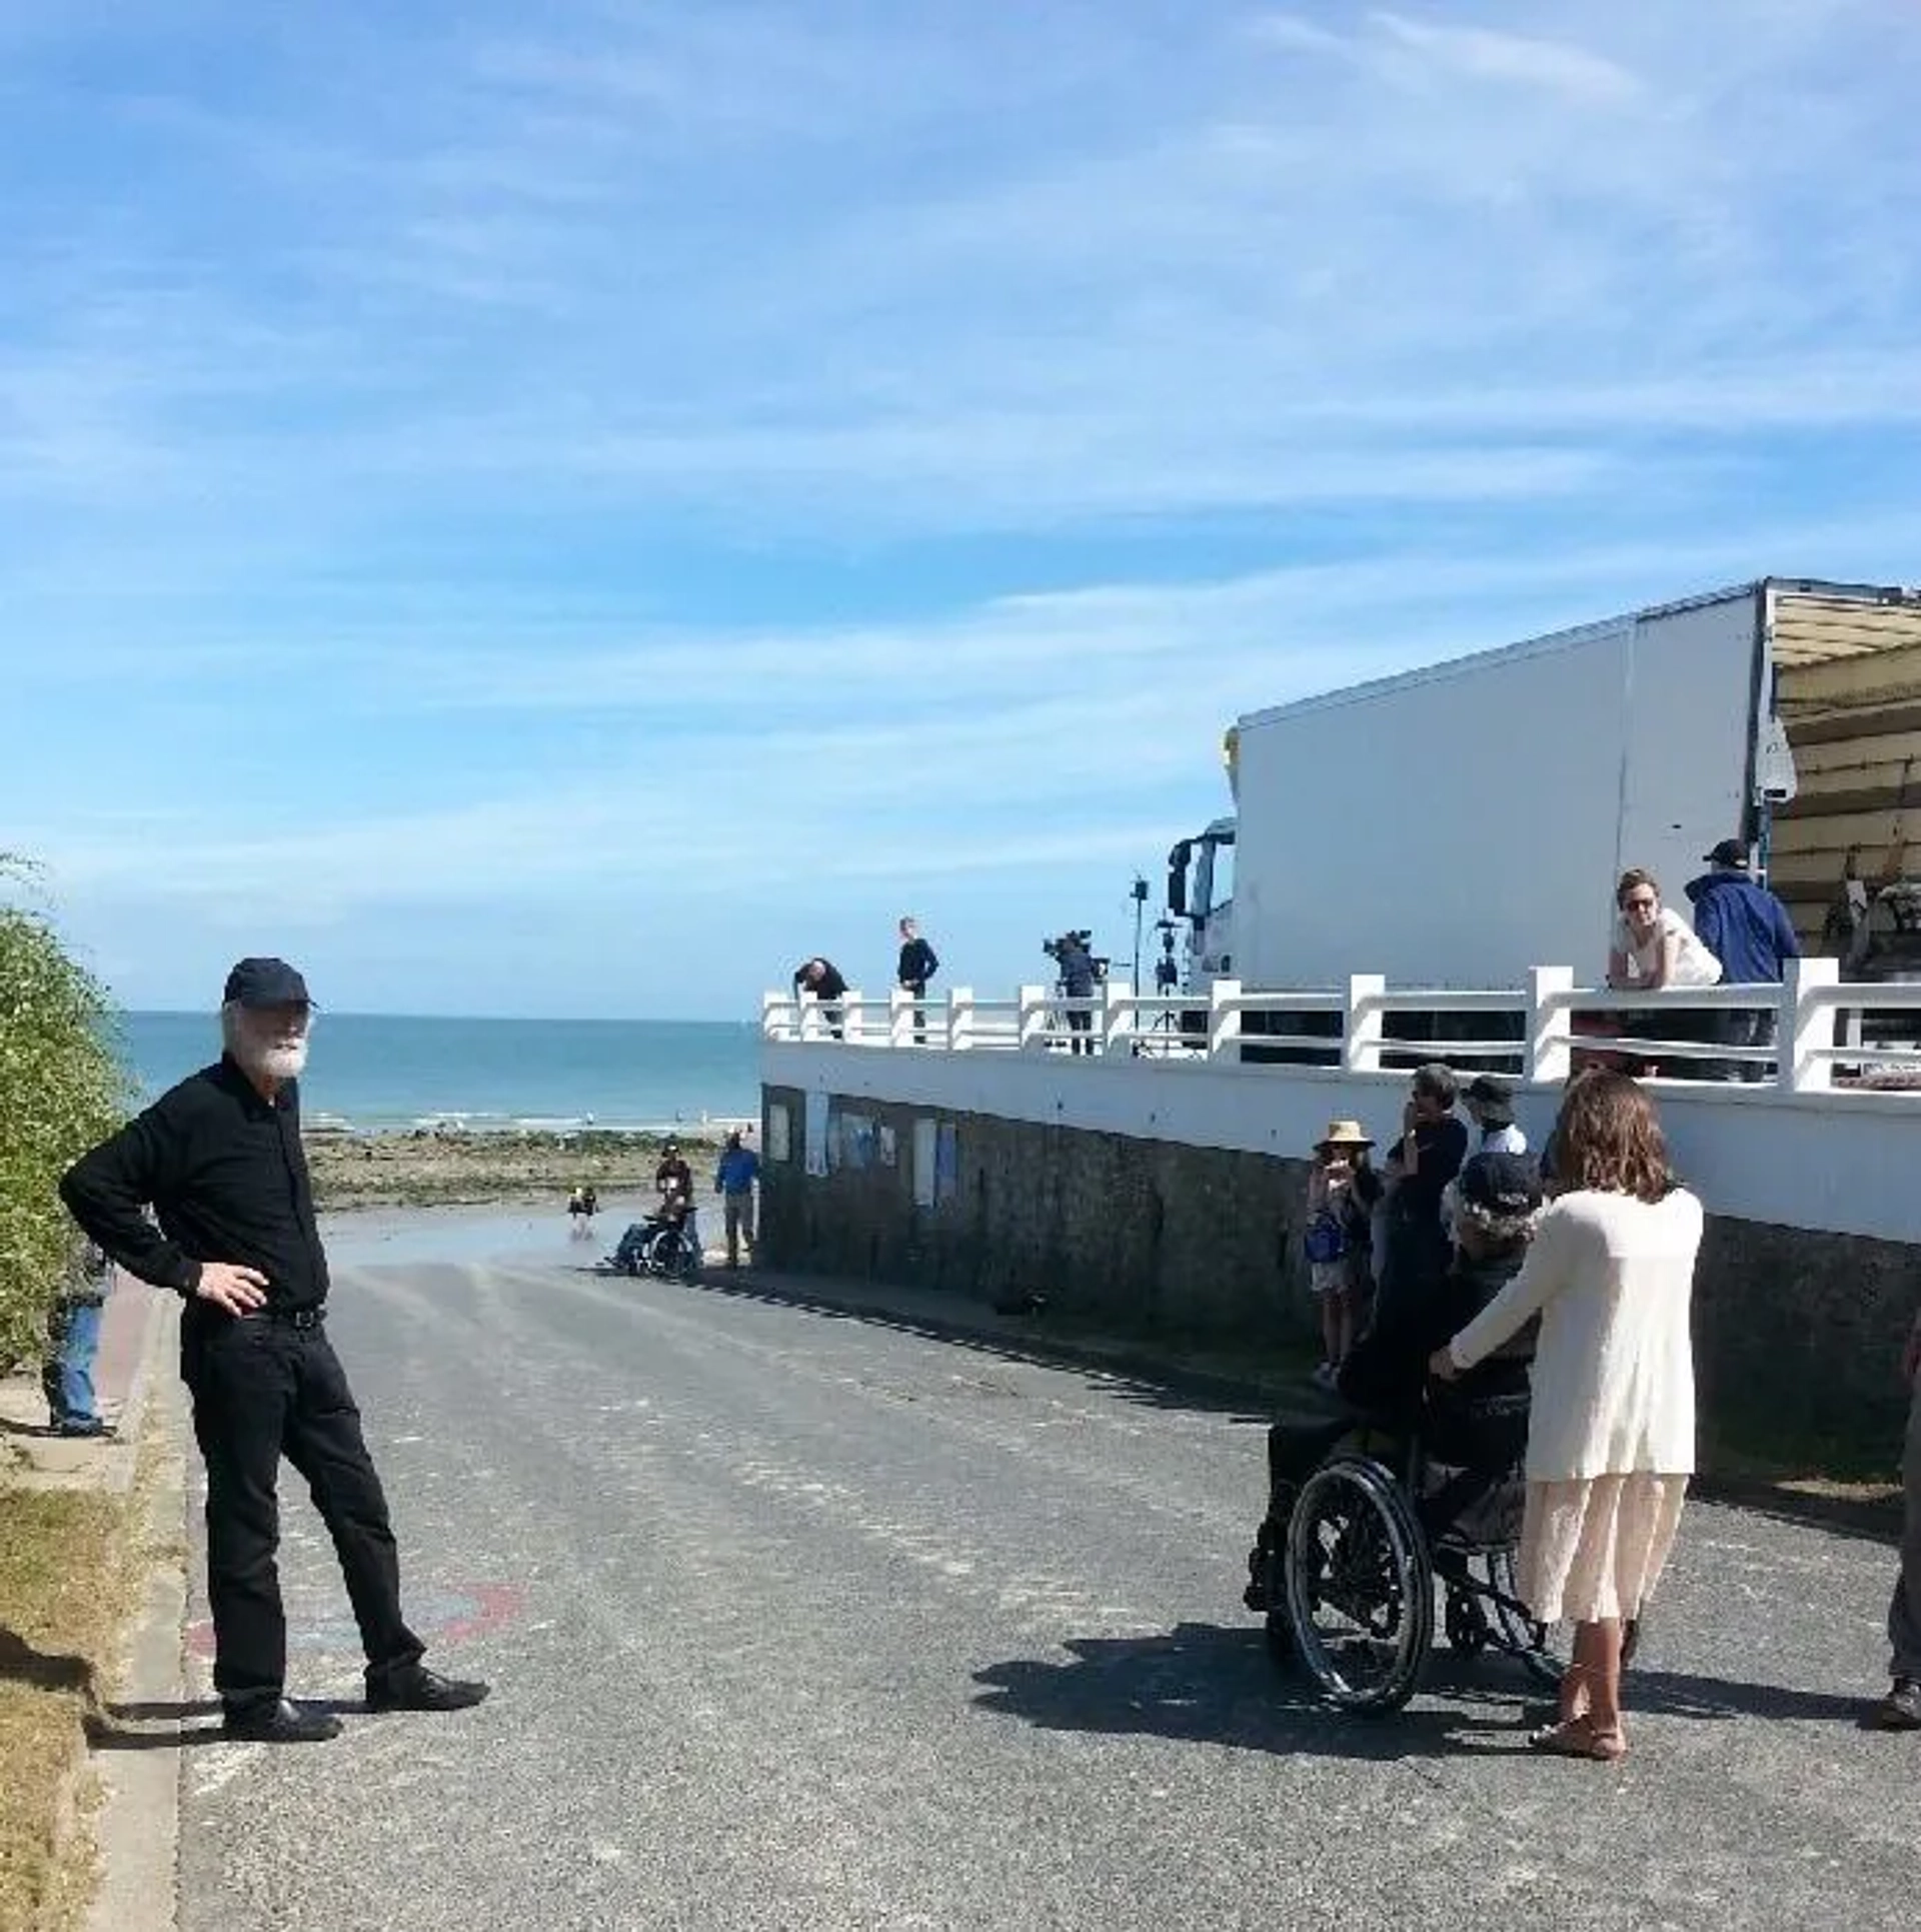
[(66, 1779), (112, 1675), (128, 1503), (0, 1486), (0, 1932), (58, 1893)]

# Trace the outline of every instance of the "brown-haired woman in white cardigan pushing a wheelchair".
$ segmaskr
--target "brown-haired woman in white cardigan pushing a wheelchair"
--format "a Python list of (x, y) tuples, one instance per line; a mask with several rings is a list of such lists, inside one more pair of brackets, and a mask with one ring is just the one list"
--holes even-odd
[(1654, 1594), (1695, 1468), (1687, 1316), (1703, 1213), (1625, 1074), (1569, 1090), (1554, 1192), (1527, 1264), (1430, 1366), (1453, 1378), (1540, 1316), (1519, 1590), (1542, 1623), (1571, 1621), (1575, 1642), (1560, 1721), (1529, 1743), (1612, 1762), (1627, 1750), (1621, 1627)]

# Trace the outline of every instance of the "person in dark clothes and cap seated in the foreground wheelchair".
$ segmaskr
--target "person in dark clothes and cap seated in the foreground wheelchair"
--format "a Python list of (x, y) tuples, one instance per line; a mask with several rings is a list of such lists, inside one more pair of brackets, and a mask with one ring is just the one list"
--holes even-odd
[(1270, 1557), (1285, 1540), (1293, 1499), (1341, 1443), (1386, 1439), (1384, 1459), (1401, 1463), (1419, 1434), (1430, 1463), (1459, 1472), (1422, 1501), (1436, 1532), (1519, 1463), (1533, 1325), (1451, 1383), (1428, 1376), (1428, 1356), (1521, 1271), (1540, 1209), (1540, 1175), (1525, 1155), (1477, 1153), (1467, 1161), (1448, 1194), (1453, 1260), (1446, 1273), (1405, 1283), (1407, 1293), (1376, 1314), (1335, 1383), (1339, 1414), (1283, 1416), (1268, 1430), (1268, 1515), (1248, 1553), (1248, 1609), (1270, 1607)]

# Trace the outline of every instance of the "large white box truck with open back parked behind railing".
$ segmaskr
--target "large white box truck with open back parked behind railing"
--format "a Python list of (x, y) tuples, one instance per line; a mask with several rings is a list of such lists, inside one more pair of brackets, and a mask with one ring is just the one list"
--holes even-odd
[(1921, 593), (1780, 578), (1256, 711), (1169, 854), (1187, 985), (1596, 983), (1620, 873), (1685, 916), (1732, 837), (1819, 943), (1917, 755)]

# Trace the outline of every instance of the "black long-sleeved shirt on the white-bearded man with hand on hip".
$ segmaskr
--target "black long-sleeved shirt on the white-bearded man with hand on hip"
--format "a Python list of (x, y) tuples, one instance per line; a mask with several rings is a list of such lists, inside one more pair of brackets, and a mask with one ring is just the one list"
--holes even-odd
[[(201, 1262), (238, 1262), (267, 1277), (271, 1308), (327, 1300), (296, 1080), (267, 1101), (232, 1059), (203, 1066), (75, 1161), (60, 1198), (155, 1287), (191, 1294)], [(149, 1204), (158, 1227), (141, 1213)]]

